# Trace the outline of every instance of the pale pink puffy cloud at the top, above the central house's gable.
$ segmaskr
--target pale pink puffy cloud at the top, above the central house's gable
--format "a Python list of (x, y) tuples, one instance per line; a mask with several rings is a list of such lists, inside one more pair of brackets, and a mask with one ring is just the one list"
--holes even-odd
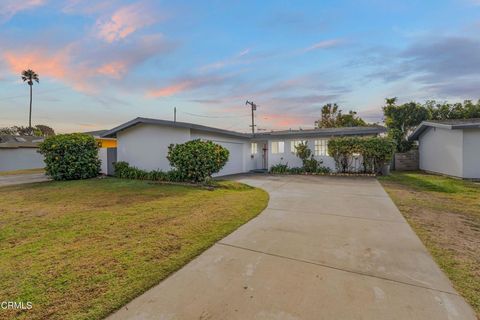
[(123, 39), (135, 31), (156, 22), (149, 8), (142, 3), (134, 3), (116, 10), (108, 19), (97, 21), (98, 36), (114, 42)]

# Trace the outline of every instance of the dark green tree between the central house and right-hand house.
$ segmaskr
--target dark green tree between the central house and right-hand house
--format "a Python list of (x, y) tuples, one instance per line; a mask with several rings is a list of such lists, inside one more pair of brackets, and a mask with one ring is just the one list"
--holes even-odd
[(387, 98), (383, 107), (385, 125), (388, 128), (388, 136), (393, 139), (398, 152), (406, 152), (412, 148), (412, 142), (408, 141), (408, 135), (422, 121), (430, 118), (428, 109), (416, 102), (408, 102), (397, 105), (397, 98)]

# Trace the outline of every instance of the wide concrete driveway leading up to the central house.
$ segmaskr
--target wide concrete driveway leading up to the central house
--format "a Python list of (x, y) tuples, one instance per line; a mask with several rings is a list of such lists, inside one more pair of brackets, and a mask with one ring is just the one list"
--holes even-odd
[(375, 179), (238, 180), (268, 208), (110, 319), (476, 319)]

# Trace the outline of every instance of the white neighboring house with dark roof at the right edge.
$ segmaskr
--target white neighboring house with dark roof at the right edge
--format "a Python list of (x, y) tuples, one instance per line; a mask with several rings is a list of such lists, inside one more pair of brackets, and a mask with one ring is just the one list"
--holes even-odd
[(421, 170), (480, 179), (480, 119), (424, 121), (409, 139), (418, 140)]

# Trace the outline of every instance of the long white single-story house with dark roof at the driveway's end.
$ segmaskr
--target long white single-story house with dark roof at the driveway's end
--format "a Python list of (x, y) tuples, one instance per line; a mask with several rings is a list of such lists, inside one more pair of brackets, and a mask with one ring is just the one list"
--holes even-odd
[[(381, 126), (287, 130), (255, 135), (217, 129), (193, 123), (136, 118), (105, 132), (102, 137), (117, 139), (117, 161), (144, 170), (169, 170), (166, 158), (170, 144), (193, 139), (211, 140), (230, 151), (225, 167), (218, 175), (268, 169), (279, 163), (301, 166), (294, 145), (307, 141), (315, 158), (335, 169), (328, 155), (328, 139), (339, 136), (375, 136), (386, 130)], [(360, 166), (360, 163), (358, 164)]]

